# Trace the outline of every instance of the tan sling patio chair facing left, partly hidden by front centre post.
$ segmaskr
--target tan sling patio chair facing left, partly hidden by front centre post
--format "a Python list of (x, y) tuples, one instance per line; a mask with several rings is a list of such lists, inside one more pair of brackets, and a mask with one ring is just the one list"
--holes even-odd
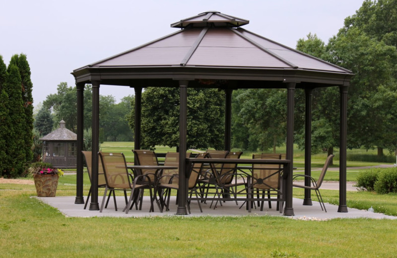
[[(177, 152), (178, 153), (178, 152)], [(168, 155), (168, 154), (167, 154)], [(179, 153), (177, 154), (172, 154), (175, 158), (178, 159), (179, 162)], [(206, 158), (207, 153), (199, 153), (196, 155), (196, 158)], [(189, 155), (190, 156), (190, 155)], [(188, 155), (187, 155), (188, 157)], [(166, 156), (167, 158), (167, 156)], [(179, 163), (178, 163), (179, 164)], [(190, 176), (188, 180), (188, 196), (192, 196), (192, 194), (195, 194), (197, 198), (199, 198), (199, 192), (201, 188), (203, 188), (203, 185), (198, 184), (199, 177), (201, 175), (201, 169), (202, 169), (202, 164), (203, 163), (193, 163), (190, 168), (187, 168), (190, 171)], [(164, 191), (164, 194), (161, 196), (163, 199), (164, 206), (166, 207), (166, 211), (169, 210), (169, 203), (170, 203), (170, 195), (171, 195), (171, 190), (179, 190), (179, 175), (178, 173), (174, 175), (164, 175), (161, 176), (156, 185), (156, 191)], [(200, 194), (201, 196), (201, 194)], [(189, 213), (190, 212), (190, 198), (187, 198), (186, 200), (186, 205), (188, 207)], [(199, 199), (197, 200), (199, 204), (200, 211), (202, 212), (201, 204)], [(163, 206), (161, 207), (161, 212), (163, 211)]]

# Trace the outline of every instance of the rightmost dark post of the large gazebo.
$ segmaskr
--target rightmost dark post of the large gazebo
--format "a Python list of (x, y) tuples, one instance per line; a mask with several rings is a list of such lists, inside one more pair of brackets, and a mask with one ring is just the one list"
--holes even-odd
[(340, 92), (340, 147), (339, 147), (339, 207), (338, 212), (347, 212), (346, 205), (346, 138), (347, 138), (347, 89), (339, 86)]

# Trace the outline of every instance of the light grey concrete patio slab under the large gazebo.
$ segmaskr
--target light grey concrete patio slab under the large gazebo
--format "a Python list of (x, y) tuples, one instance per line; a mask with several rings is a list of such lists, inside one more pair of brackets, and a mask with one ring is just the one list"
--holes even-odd
[[(75, 196), (56, 196), (56, 197), (34, 197), (37, 198), (48, 205), (51, 205), (57, 208), (60, 212), (62, 212), (67, 217), (147, 217), (147, 216), (174, 216), (177, 210), (177, 205), (175, 205), (175, 196), (171, 196), (170, 201), (170, 211), (160, 213), (157, 205), (155, 204), (154, 210), (155, 212), (149, 211), (149, 197), (145, 196), (143, 199), (142, 210), (135, 210), (134, 208), (130, 210), (129, 214), (123, 212), (123, 208), (125, 206), (124, 196), (116, 196), (118, 211), (114, 209), (114, 203), (111, 199), (109, 201), (109, 205), (106, 209), (103, 209), (103, 212), (99, 212), (99, 210), (88, 210), (83, 209), (84, 204), (74, 204)], [(99, 201), (102, 200), (102, 197), (99, 198)], [(101, 203), (99, 203), (101, 204)], [(267, 203), (265, 203), (264, 210), (261, 211), (258, 207), (252, 209), (252, 212), (249, 213), (248, 210), (245, 209), (245, 205), (243, 208), (239, 209), (240, 205), (243, 204), (243, 201), (239, 201), (239, 206), (236, 205), (233, 201), (227, 201), (222, 203), (223, 206), (220, 206), (219, 203), (216, 209), (209, 208), (210, 202), (207, 201), (207, 204), (201, 203), (203, 212), (201, 213), (199, 210), (199, 206), (197, 201), (192, 201), (191, 203), (191, 214), (187, 216), (283, 216), (276, 211), (275, 206), (276, 202), (272, 202), (272, 209), (269, 209)], [(89, 206), (89, 205), (88, 205)], [(295, 216), (291, 216), (290, 218), (294, 219), (305, 219), (305, 220), (326, 220), (333, 218), (373, 218), (373, 219), (397, 219), (395, 216), (388, 216), (381, 213), (369, 212), (367, 210), (359, 210), (348, 208), (347, 213), (337, 212), (338, 206), (331, 205), (326, 203), (326, 208), (328, 212), (322, 211), (319, 202), (313, 201), (313, 206), (303, 206), (302, 199), (293, 199), (293, 207)], [(176, 215), (175, 215), (176, 216)], [(181, 216), (181, 215), (178, 215)]]

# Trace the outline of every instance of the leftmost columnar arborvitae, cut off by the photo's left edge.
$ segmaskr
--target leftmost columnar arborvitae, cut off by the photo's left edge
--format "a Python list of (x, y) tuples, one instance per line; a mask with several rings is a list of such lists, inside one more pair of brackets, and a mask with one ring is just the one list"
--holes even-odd
[(7, 77), (7, 67), (0, 56), (0, 175), (5, 170), (7, 164), (7, 154), (5, 153), (6, 139), (8, 137), (8, 94), (5, 91), (5, 82)]

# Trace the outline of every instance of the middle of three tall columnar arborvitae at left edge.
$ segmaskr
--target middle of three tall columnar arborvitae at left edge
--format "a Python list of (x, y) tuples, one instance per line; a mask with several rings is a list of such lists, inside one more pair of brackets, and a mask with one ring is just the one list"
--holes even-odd
[[(7, 68), (8, 77), (6, 80), (6, 92), (8, 93), (8, 124), (9, 133), (5, 152), (9, 160), (5, 167), (5, 174), (8, 177), (20, 176), (23, 172), (26, 158), (26, 148), (24, 141), (24, 110), (21, 89), (21, 75), (16, 65), (10, 64)], [(29, 146), (30, 149), (31, 146)]]

